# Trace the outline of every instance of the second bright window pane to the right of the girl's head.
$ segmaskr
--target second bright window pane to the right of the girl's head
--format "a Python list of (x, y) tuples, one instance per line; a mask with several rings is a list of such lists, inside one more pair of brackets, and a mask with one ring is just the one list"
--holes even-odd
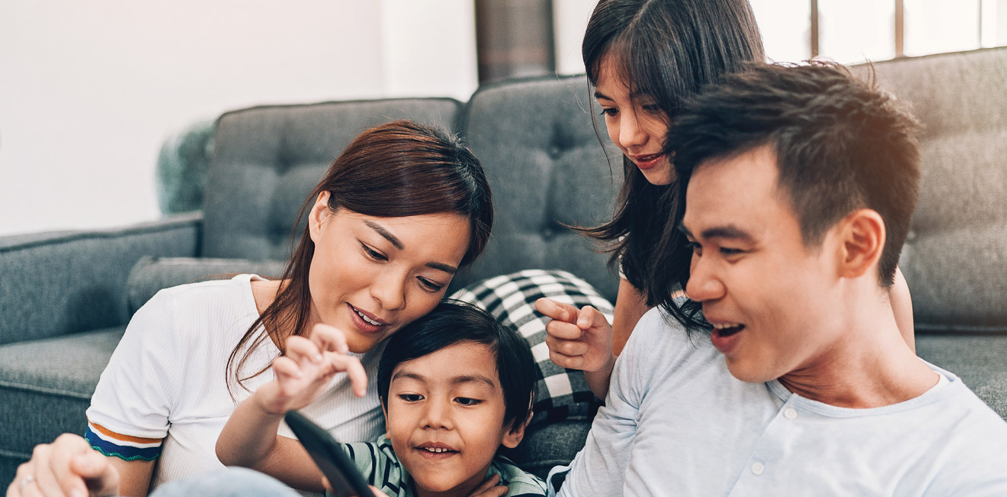
[(819, 0), (819, 31), (822, 57), (843, 63), (892, 58), (895, 2)]

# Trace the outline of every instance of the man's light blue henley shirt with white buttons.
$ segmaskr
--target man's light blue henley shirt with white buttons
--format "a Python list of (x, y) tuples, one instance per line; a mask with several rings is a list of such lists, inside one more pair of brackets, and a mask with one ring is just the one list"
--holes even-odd
[(1007, 423), (930, 367), (950, 381), (837, 407), (734, 378), (709, 337), (652, 310), (559, 495), (1007, 496)]

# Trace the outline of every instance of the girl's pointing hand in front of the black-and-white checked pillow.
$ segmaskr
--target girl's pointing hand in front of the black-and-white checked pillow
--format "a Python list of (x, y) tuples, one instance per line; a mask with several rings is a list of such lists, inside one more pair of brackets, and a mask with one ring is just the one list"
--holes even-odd
[(541, 298), (535, 308), (552, 318), (546, 325), (549, 358), (557, 366), (594, 372), (611, 370), (612, 327), (600, 311)]

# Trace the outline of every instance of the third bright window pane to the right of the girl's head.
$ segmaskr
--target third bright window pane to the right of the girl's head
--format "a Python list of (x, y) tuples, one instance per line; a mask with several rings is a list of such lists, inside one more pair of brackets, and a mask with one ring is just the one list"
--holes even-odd
[(980, 0), (904, 0), (905, 54), (979, 48)]

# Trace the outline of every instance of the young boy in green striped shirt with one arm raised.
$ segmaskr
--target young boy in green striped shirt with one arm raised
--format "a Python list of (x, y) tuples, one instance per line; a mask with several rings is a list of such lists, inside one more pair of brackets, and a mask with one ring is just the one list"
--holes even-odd
[[(283, 415), (314, 401), (346, 371), (357, 392), (363, 366), (331, 327), (291, 337), (276, 379), (231, 416), (217, 443), (225, 465), (253, 468), (305, 490), (322, 475), (299, 443), (277, 436)], [(508, 496), (545, 495), (545, 484), (496, 455), (521, 443), (531, 417), (535, 364), (524, 339), (486, 312), (444, 302), (389, 340), (378, 366), (387, 433), (346, 444), (346, 454), (389, 496), (467, 496), (498, 478)], [(498, 495), (498, 494), (494, 494)]]

